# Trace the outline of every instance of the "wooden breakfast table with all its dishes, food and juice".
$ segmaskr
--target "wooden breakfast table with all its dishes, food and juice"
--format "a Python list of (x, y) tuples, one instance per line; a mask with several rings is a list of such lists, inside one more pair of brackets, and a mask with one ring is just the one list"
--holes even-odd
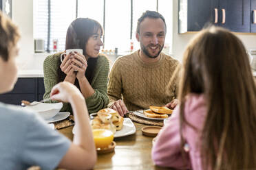
[[(60, 112), (62, 103), (33, 102), (26, 104), (24, 108), (38, 112), (52, 129), (58, 130), (73, 140), (74, 134), (76, 134), (75, 122), (70, 112)], [(100, 111), (90, 114), (94, 143), (98, 154), (94, 169), (170, 169), (153, 165), (151, 149), (158, 132), (171, 116), (172, 111), (166, 114), (164, 118), (162, 118), (163, 114), (158, 115), (156, 113), (155, 115), (155, 112), (150, 109), (129, 112), (124, 118), (120, 117), (117, 112), (112, 112), (111, 119), (115, 117), (116, 120), (120, 121), (119, 124), (116, 124), (115, 121), (110, 123), (116, 125), (116, 130), (113, 133), (107, 130), (111, 134), (109, 136), (106, 135), (105, 131), (103, 131), (105, 136), (97, 136), (102, 132), (97, 130), (93, 121), (97, 123), (103, 119), (103, 116), (105, 121), (109, 121), (110, 119), (106, 117), (109, 110), (111, 109), (105, 109), (106, 112), (102, 114), (99, 113)], [(149, 117), (147, 117), (148, 114)], [(95, 121), (96, 119), (98, 121)], [(107, 145), (105, 145), (106, 143)], [(36, 167), (30, 168), (30, 170), (33, 169)]]

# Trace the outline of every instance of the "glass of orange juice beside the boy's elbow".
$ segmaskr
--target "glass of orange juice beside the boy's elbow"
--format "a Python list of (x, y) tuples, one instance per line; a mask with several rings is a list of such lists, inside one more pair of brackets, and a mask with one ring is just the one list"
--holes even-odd
[(96, 148), (108, 147), (114, 139), (114, 134), (110, 130), (98, 129), (92, 130)]

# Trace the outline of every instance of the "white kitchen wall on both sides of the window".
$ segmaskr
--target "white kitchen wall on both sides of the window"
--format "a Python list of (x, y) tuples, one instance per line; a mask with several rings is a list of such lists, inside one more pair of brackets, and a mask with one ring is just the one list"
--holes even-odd
[[(181, 61), (182, 53), (195, 33), (178, 34), (178, 0), (173, 0), (173, 14), (170, 10), (170, 15), (173, 15), (173, 43), (170, 53)], [(43, 60), (47, 54), (33, 55), (33, 1), (12, 0), (12, 19), (21, 31), (20, 55), (17, 59), (19, 69), (43, 69)], [(237, 34), (237, 36), (241, 38), (247, 49), (256, 49), (256, 34)]]

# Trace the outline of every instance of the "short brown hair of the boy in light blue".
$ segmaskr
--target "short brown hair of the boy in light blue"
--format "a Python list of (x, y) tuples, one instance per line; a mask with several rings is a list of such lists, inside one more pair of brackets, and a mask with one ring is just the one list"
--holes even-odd
[(17, 45), (19, 38), (18, 27), (0, 12), (0, 57), (4, 61), (8, 61), (10, 49)]

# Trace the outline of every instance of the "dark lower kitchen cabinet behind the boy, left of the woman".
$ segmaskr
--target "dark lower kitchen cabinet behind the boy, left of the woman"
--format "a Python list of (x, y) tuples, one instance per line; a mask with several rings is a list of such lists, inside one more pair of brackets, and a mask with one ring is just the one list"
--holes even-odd
[(40, 101), (45, 88), (43, 77), (19, 78), (12, 91), (1, 94), (0, 101), (6, 104), (20, 105), (21, 100)]

